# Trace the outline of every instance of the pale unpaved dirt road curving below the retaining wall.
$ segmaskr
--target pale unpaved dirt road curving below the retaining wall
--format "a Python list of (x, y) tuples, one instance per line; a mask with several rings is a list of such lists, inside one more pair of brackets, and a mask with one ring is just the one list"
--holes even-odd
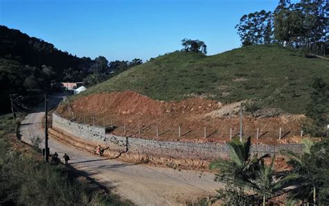
[[(42, 117), (44, 112), (27, 115), (20, 128), (22, 141), (31, 144), (33, 137), (44, 137)], [(71, 166), (136, 205), (185, 205), (184, 200), (215, 194), (215, 189), (222, 187), (214, 182), (212, 173), (109, 160), (72, 148), (51, 137), (49, 148), (51, 154), (57, 151), (61, 159), (67, 153)]]

